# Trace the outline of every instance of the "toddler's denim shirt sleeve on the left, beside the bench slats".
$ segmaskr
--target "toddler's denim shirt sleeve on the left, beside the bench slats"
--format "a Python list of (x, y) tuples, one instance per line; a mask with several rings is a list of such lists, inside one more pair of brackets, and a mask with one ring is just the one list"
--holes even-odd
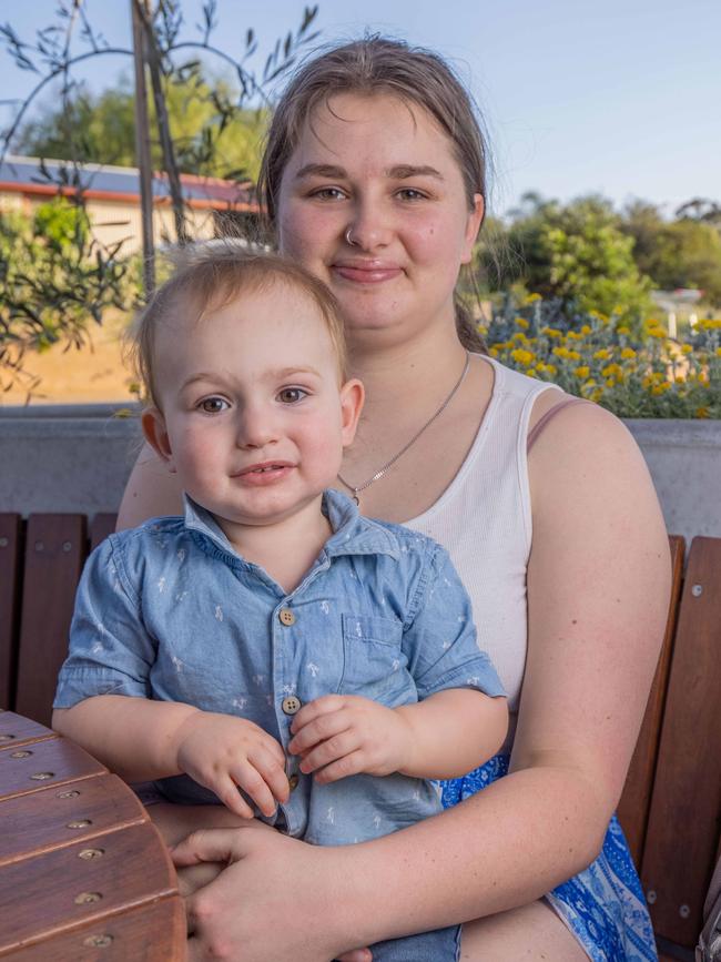
[(72, 708), (95, 695), (150, 697), (155, 644), (143, 625), (139, 599), (121, 571), (122, 544), (111, 536), (88, 558), (53, 708)]

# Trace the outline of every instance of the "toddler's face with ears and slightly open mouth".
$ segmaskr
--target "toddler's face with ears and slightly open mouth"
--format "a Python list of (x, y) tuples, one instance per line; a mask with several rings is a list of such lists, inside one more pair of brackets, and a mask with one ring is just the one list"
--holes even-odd
[(223, 520), (272, 525), (317, 502), (351, 444), (363, 387), (341, 386), (318, 307), (285, 283), (156, 332), (162, 414), (148, 439)]

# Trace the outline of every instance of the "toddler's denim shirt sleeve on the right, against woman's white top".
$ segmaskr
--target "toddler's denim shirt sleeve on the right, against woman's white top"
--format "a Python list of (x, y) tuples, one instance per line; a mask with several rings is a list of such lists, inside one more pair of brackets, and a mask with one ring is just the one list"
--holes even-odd
[(440, 545), (431, 545), (414, 601), (403, 645), (418, 697), (446, 688), (505, 696), (490, 658), (478, 647), (470, 598)]

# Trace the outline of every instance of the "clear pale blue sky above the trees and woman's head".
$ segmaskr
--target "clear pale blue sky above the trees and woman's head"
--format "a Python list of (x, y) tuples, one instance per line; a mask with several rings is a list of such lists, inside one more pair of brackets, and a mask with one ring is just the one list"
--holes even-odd
[[(57, 0), (0, 0), (0, 23), (23, 40), (50, 23)], [(240, 53), (252, 27), (256, 65), (301, 22), (295, 0), (219, 0), (215, 42)], [(187, 37), (202, 0), (183, 0)], [(130, 45), (130, 0), (87, 0), (113, 45)], [(527, 191), (570, 200), (640, 198), (671, 216), (693, 196), (721, 200), (721, 0), (327, 0), (318, 43), (379, 31), (431, 47), (471, 90), (494, 153), (490, 209)], [(112, 85), (128, 60), (100, 58), (91, 89)], [(23, 97), (33, 75), (0, 50), (0, 98)], [(47, 100), (45, 100), (47, 102)], [(10, 107), (0, 105), (2, 124)]]

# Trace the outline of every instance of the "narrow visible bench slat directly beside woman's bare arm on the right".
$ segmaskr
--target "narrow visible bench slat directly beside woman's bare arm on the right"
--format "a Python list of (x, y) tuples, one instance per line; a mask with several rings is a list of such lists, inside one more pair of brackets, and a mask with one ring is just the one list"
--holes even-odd
[(631, 850), (631, 855), (637, 865), (641, 864), (643, 858), (646, 826), (651, 804), (651, 790), (653, 788), (661, 719), (663, 717), (667, 683), (671, 667), (679, 596), (681, 594), (681, 585), (683, 581), (683, 556), (686, 553), (686, 541), (678, 535), (671, 535), (669, 538), (669, 546), (671, 548), (671, 568), (673, 578), (671, 584), (669, 618), (666, 624), (663, 646), (661, 647), (661, 654), (659, 655), (659, 664), (653, 677), (653, 685), (649, 695), (646, 715), (643, 716), (643, 723), (641, 725), (639, 739), (636, 743), (636, 751), (631, 759), (628, 778), (626, 779), (626, 786), (623, 788), (623, 794), (621, 796), (621, 801), (618, 806), (619, 821), (621, 822), (621, 827), (623, 828), (623, 832)]

